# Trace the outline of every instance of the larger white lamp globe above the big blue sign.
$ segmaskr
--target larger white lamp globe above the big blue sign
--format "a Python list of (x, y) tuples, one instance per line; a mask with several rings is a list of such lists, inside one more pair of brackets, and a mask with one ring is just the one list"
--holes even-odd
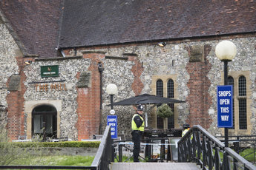
[(237, 47), (232, 41), (221, 41), (215, 48), (215, 54), (220, 61), (232, 61), (237, 54)]

